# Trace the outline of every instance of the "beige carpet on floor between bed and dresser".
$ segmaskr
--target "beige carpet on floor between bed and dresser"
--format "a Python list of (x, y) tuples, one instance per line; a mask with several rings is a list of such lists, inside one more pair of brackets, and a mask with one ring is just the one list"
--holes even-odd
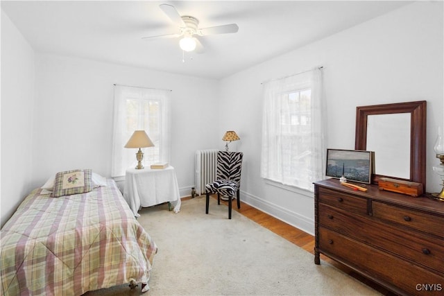
[[(245, 216), (211, 199), (182, 202), (178, 214), (167, 204), (142, 209), (138, 218), (159, 251), (148, 295), (379, 295)], [(127, 285), (87, 293), (140, 295)]]

